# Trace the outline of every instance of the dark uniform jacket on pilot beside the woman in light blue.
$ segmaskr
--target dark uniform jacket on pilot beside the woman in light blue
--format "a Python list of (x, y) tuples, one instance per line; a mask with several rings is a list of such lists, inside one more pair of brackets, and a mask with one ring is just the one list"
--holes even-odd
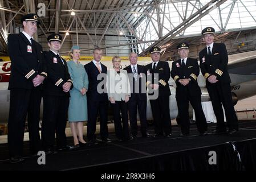
[[(70, 92), (64, 92), (62, 85), (65, 82), (71, 82), (70, 74), (68, 73), (67, 62), (59, 56), (56, 56), (54, 52), (43, 52), (43, 55), (47, 64), (48, 79), (44, 82), (43, 94), (53, 96), (68, 96)], [(70, 89), (72, 89), (73, 85)]]

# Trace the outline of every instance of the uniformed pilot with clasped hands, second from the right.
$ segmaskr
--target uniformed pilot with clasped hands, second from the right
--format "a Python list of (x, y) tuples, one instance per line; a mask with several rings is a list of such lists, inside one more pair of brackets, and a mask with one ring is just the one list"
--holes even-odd
[(199, 65), (197, 59), (188, 57), (189, 44), (181, 43), (177, 46), (180, 59), (172, 63), (171, 76), (176, 82), (176, 100), (178, 115), (180, 115), (180, 136), (189, 134), (189, 101), (196, 114), (196, 125), (201, 135), (206, 134), (207, 122), (201, 105), (201, 89), (197, 83)]

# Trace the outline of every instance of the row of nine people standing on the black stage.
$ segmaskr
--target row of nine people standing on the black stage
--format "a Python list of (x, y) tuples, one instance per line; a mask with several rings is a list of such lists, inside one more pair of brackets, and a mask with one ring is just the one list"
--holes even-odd
[[(8, 49), (11, 59), (10, 113), (8, 122), (8, 143), (10, 162), (23, 160), (22, 146), (26, 116), (29, 126), (30, 150), (36, 155), (39, 150), (46, 154), (56, 149), (72, 150), (86, 144), (97, 144), (96, 121), (99, 113), (100, 137), (102, 142), (108, 138), (108, 104), (113, 108), (116, 137), (119, 140), (137, 138), (137, 110), (140, 116), (142, 137), (151, 137), (147, 131), (147, 93), (152, 108), (155, 134), (152, 137), (172, 136), (169, 114), (169, 78), (176, 81), (176, 98), (181, 118), (181, 136), (189, 134), (188, 104), (192, 104), (198, 131), (207, 133), (205, 115), (201, 106), (201, 90), (197, 84), (199, 66), (196, 59), (188, 57), (188, 43), (178, 45), (180, 60), (174, 61), (172, 71), (168, 62), (160, 61), (159, 47), (150, 49), (152, 63), (137, 64), (136, 53), (129, 55), (130, 65), (120, 68), (121, 58), (112, 58), (113, 69), (107, 70), (100, 62), (102, 50), (95, 48), (94, 60), (86, 65), (79, 63), (80, 48), (73, 46), (71, 60), (66, 62), (60, 55), (62, 44), (60, 34), (48, 36), (49, 51), (32, 36), (40, 23), (36, 14), (22, 17), (23, 31), (10, 34)], [(237, 118), (231, 102), (230, 78), (227, 73), (227, 52), (225, 44), (213, 43), (214, 29), (207, 27), (202, 31), (209, 48), (200, 52), (200, 68), (206, 78), (206, 87), (213, 102), (217, 117), (217, 130), (226, 131), (222, 105), (224, 105), (229, 134), (238, 130)], [(43, 97), (42, 143), (39, 135), (40, 102)], [(131, 126), (129, 132), (128, 115)], [(70, 122), (74, 146), (67, 144), (65, 129)], [(87, 142), (83, 138), (83, 122), (87, 121)]]

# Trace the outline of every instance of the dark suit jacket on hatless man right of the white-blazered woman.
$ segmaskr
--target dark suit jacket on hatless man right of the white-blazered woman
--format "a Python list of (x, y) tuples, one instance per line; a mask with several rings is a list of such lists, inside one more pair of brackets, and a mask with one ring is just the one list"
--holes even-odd
[[(127, 71), (128, 76), (129, 76), (129, 74), (133, 74), (132, 65), (129, 65), (128, 67), (125, 67), (124, 70)], [(131, 85), (131, 92), (132, 92), (130, 100), (132, 100), (135, 97), (135, 94), (137, 94), (137, 96), (139, 97), (140, 100), (147, 100), (147, 94), (145, 93), (146, 92), (146, 89), (145, 89), (145, 80), (146, 80), (146, 78), (145, 78), (145, 76), (147, 76), (147, 75), (145, 75), (145, 73), (144, 73), (144, 66), (143, 65), (137, 64), (137, 74), (138, 74), (137, 81), (135, 81), (134, 77), (131, 77), (131, 76), (129, 77), (129, 82), (130, 82), (130, 85)], [(139, 88), (135, 89), (137, 84), (139, 84)], [(135, 90), (136, 90), (136, 92), (139, 91), (139, 93), (135, 93)]]

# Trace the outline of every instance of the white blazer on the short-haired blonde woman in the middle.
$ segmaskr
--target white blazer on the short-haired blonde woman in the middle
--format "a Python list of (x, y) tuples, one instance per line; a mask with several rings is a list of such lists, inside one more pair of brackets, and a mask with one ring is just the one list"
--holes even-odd
[(120, 69), (118, 74), (115, 69), (107, 71), (107, 92), (108, 99), (113, 97), (115, 101), (124, 101), (125, 96), (131, 97), (131, 88), (127, 71)]

